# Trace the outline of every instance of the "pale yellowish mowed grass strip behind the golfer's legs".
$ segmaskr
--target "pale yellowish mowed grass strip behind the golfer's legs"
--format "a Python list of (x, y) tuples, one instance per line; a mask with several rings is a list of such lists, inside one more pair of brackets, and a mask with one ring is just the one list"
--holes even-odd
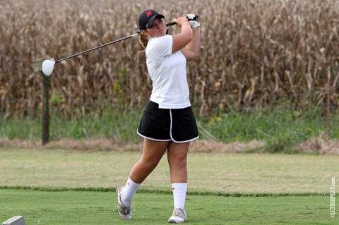
[[(141, 152), (0, 149), (0, 186), (117, 187), (140, 157)], [(189, 190), (328, 193), (338, 161), (334, 155), (190, 153)], [(170, 190), (166, 155), (143, 183), (155, 187)]]

